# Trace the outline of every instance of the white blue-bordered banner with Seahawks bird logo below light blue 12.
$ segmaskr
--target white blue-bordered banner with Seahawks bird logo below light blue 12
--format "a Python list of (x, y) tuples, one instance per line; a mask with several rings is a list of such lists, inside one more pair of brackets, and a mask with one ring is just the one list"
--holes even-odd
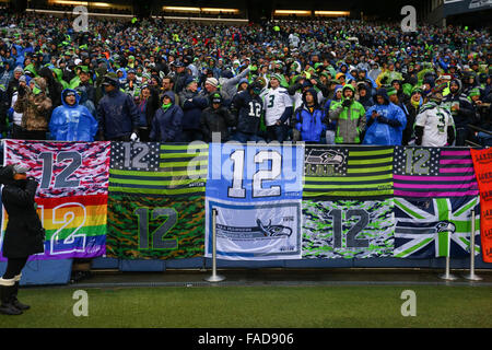
[(206, 257), (212, 257), (212, 210), (216, 210), (216, 257), (227, 260), (302, 258), (302, 201), (237, 203), (207, 199)]

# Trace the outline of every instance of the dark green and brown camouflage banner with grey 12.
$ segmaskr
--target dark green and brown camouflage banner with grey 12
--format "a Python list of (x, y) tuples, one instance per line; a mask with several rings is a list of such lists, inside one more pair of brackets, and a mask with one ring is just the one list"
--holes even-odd
[(125, 259), (203, 256), (204, 197), (110, 195), (106, 254)]

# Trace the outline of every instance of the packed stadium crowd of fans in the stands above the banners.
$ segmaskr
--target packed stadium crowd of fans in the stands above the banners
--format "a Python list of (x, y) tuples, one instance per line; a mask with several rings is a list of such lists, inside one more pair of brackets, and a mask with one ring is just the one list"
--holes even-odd
[(488, 30), (73, 20), (0, 15), (4, 138), (492, 144)]

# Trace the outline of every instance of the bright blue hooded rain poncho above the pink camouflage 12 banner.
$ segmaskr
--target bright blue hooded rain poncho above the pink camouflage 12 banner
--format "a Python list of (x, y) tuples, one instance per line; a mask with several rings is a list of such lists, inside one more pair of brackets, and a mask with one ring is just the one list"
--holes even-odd
[(79, 105), (79, 94), (75, 93), (75, 104), (68, 105), (65, 96), (71, 89), (61, 92), (62, 105), (55, 108), (49, 120), (51, 138), (57, 141), (94, 141), (97, 133), (97, 121), (84, 106)]

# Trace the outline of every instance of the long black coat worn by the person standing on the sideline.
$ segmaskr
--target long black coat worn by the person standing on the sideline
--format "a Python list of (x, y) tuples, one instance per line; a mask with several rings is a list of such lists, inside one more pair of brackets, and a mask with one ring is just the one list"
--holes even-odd
[(25, 258), (44, 252), (43, 226), (34, 201), (37, 185), (36, 180), (27, 179), (12, 180), (3, 187), (2, 202), (9, 215), (2, 247), (7, 258)]

